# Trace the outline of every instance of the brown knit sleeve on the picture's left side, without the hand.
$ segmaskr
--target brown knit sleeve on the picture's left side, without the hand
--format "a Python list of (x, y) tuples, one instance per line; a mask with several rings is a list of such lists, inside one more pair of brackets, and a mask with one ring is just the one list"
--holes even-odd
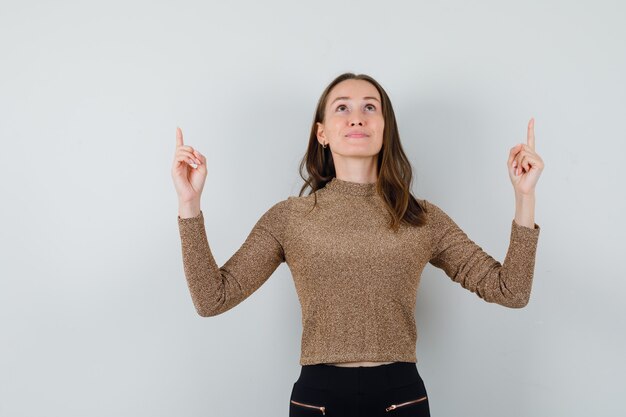
[(183, 267), (198, 314), (210, 317), (241, 303), (285, 261), (281, 244), (287, 200), (274, 204), (254, 225), (241, 247), (219, 267), (204, 227), (204, 213), (178, 216)]

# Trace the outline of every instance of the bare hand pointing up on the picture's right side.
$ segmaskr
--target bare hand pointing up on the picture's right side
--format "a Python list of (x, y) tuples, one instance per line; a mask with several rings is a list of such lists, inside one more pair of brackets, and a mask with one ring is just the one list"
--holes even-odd
[(509, 152), (507, 167), (516, 195), (534, 194), (543, 171), (543, 159), (535, 152), (535, 119), (528, 122), (527, 143), (518, 143)]

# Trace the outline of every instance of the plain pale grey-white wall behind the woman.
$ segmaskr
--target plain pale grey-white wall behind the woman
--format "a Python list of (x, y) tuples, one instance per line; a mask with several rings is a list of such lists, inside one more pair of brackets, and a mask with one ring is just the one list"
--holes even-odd
[(536, 119), (528, 306), (423, 272), (432, 415), (623, 415), (625, 18), (619, 1), (3, 0), (0, 416), (287, 415), (302, 331), (290, 271), (196, 314), (175, 129), (208, 159), (222, 265), (298, 194), (315, 105), (344, 71), (387, 89), (414, 194), (499, 261), (508, 153)]

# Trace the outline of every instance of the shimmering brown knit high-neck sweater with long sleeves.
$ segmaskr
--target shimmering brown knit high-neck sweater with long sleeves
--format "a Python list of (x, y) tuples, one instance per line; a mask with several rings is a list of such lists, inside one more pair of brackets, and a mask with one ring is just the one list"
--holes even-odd
[(375, 183), (333, 178), (313, 195), (290, 196), (257, 221), (218, 266), (203, 212), (178, 217), (184, 272), (196, 311), (221, 314), (255, 292), (286, 262), (302, 308), (301, 365), (417, 362), (415, 304), (426, 263), (486, 302), (520, 308), (529, 300), (539, 237), (511, 223), (501, 264), (437, 205), (423, 200), (427, 224), (388, 228)]

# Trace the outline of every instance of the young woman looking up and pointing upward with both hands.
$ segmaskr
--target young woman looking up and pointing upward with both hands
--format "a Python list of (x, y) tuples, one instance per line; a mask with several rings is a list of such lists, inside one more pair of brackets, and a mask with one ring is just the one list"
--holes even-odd
[(532, 119), (528, 142), (510, 149), (507, 167), (516, 212), (500, 264), (441, 208), (411, 194), (411, 165), (387, 93), (367, 75), (342, 74), (318, 101), (300, 194), (270, 207), (220, 267), (200, 209), (206, 158), (177, 129), (172, 176), (194, 306), (203, 317), (221, 314), (286, 262), (303, 330), (289, 415), (428, 416), (414, 319), (424, 266), (486, 302), (520, 308), (530, 297), (540, 230), (534, 191), (544, 167)]

